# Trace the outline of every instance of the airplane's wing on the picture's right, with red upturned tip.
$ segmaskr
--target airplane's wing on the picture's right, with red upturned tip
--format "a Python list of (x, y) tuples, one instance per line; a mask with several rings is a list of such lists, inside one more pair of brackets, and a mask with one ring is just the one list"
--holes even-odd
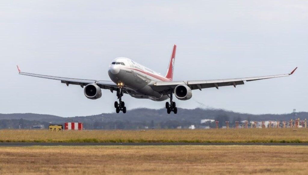
[(247, 77), (247, 78), (235, 78), (235, 79), (216, 79), (216, 80), (198, 80), (198, 81), (172, 81), (172, 82), (152, 82), (150, 86), (153, 90), (158, 92), (168, 91), (174, 89), (177, 85), (185, 84), (192, 90), (199, 89), (200, 91), (204, 88), (219, 88), (221, 86), (234, 86), (244, 84), (244, 81), (255, 81), (261, 79), (270, 79), (278, 77), (286, 77), (292, 75), (297, 67), (289, 74), (280, 75), (269, 75), (269, 76), (259, 76), (259, 77)]

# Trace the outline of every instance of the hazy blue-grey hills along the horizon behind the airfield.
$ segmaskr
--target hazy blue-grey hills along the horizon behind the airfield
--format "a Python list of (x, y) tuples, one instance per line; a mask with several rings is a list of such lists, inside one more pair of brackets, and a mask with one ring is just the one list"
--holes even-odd
[[(308, 118), (308, 112), (297, 112), (297, 118)], [(232, 111), (226, 111), (223, 109), (179, 109), (178, 114), (167, 114), (166, 109), (133, 109), (126, 114), (120, 113), (106, 113), (93, 116), (76, 116), (76, 117), (59, 117), (53, 115), (44, 114), (0, 114), (0, 120), (12, 120), (12, 119), (24, 119), (24, 120), (36, 120), (41, 122), (83, 122), (88, 124), (94, 124), (95, 122), (115, 122), (115, 121), (129, 121), (129, 122), (150, 122), (154, 120), (157, 122), (172, 121), (188, 121), (191, 123), (200, 123), (202, 119), (215, 119), (218, 116), (227, 116), (230, 121), (234, 120), (290, 120), (293, 119), (293, 113), (289, 114), (246, 114)]]

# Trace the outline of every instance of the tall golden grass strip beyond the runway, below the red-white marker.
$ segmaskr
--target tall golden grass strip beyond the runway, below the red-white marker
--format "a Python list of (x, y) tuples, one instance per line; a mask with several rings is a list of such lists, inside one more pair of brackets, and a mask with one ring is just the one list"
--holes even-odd
[(308, 129), (0, 130), (0, 142), (308, 142)]

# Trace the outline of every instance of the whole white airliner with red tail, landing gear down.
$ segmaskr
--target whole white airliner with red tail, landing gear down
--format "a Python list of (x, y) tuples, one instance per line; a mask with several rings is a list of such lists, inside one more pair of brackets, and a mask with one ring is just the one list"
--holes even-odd
[(101, 89), (110, 90), (112, 93), (115, 91), (119, 100), (119, 102), (115, 101), (114, 103), (116, 113), (119, 113), (120, 111), (126, 113), (126, 106), (124, 101), (122, 101), (122, 96), (124, 94), (128, 94), (137, 99), (150, 99), (153, 101), (165, 101), (170, 99), (170, 103), (166, 102), (165, 104), (168, 114), (171, 112), (176, 114), (178, 112), (176, 103), (173, 101), (173, 94), (179, 100), (189, 100), (193, 96), (192, 90), (201, 91), (204, 88), (218, 89), (221, 86), (234, 86), (234, 88), (236, 88), (237, 85), (244, 84), (244, 81), (249, 82), (290, 76), (297, 69), (296, 67), (291, 73), (280, 75), (235, 79), (173, 81), (175, 55), (176, 45), (173, 46), (167, 74), (165, 76), (162, 76), (131, 59), (125, 57), (116, 58), (109, 65), (108, 75), (111, 81), (39, 75), (22, 72), (19, 66), (17, 66), (17, 68), (20, 75), (60, 80), (61, 83), (65, 83), (67, 86), (70, 84), (79, 85), (83, 88), (84, 95), (91, 100), (96, 100), (102, 97)]

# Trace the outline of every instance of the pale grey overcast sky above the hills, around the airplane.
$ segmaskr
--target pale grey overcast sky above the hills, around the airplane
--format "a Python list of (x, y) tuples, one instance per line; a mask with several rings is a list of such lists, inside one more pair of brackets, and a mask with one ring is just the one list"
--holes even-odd
[[(177, 45), (174, 80), (289, 73), (237, 88), (193, 91), (179, 108), (235, 112), (308, 111), (308, 1), (12, 1), (0, 2), (0, 113), (84, 116), (114, 112), (116, 94), (89, 100), (80, 86), (22, 71), (109, 80), (108, 65), (128, 57), (165, 74)], [(129, 109), (165, 102), (123, 97)], [(180, 112), (180, 111), (179, 111)]]

